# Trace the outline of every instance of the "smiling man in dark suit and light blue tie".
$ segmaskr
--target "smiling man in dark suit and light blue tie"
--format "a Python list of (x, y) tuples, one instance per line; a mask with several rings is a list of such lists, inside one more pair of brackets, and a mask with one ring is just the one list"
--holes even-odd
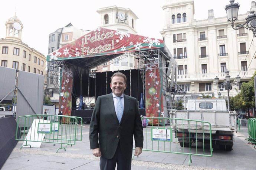
[[(137, 99), (125, 95), (126, 76), (120, 72), (111, 77), (112, 93), (99, 96), (92, 113), (90, 146), (100, 158), (101, 170), (130, 170), (133, 136), (135, 156), (143, 147), (143, 129)], [(121, 97), (121, 98), (120, 98)]]

